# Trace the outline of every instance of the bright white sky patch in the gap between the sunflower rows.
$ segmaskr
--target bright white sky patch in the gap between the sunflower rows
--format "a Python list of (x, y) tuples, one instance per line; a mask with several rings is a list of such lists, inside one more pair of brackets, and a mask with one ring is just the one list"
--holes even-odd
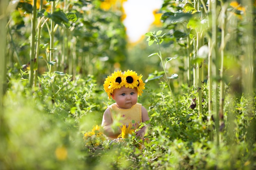
[(124, 2), (126, 33), (130, 42), (136, 42), (147, 33), (154, 21), (153, 11), (160, 9), (163, 0), (127, 0)]

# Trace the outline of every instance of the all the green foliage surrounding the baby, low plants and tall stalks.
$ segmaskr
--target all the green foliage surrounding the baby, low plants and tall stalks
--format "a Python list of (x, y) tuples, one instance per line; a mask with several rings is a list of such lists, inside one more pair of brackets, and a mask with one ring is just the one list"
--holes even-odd
[[(203, 45), (211, 40), (198, 33), (208, 29), (207, 20), (201, 19), (211, 13), (206, 13), (204, 4), (200, 5), (202, 2), (205, 1), (165, 0), (163, 31), (146, 33), (150, 48), (139, 44), (144, 52), (131, 50), (131, 54), (136, 55), (128, 59), (125, 29), (118, 12), (103, 11), (98, 0), (69, 1), (67, 6), (72, 9), (60, 6), (53, 14), (47, 11), (47, 5), (44, 6), (45, 9), (37, 11), (38, 26), (42, 29), (41, 35), (36, 37), (40, 47), (37, 62), (38, 69), (47, 69), (40, 72), (32, 88), (27, 86), (29, 73), (20, 64), (29, 61), (31, 38), (30, 31), (25, 28), (31, 24), (26, 17), (31, 15), (32, 6), (27, 1), (20, 2), (6, 27), (9, 67), (4, 112), (0, 113), (1, 169), (256, 169), (256, 94), (250, 91), (248, 97), (248, 94), (238, 95), (241, 90), (234, 90), (239, 88), (234, 82), (241, 82), (240, 72), (244, 65), (239, 64), (240, 59), (244, 61), (245, 51), (248, 51), (243, 45), (247, 41), (243, 37), (246, 23), (239, 19), (244, 17), (244, 11), (227, 7), (236, 15), (228, 15), (232, 21), (229, 23), (231, 35), (226, 37), (230, 39), (225, 46), (224, 64), (228, 77), (224, 79), (225, 100), (219, 124), (216, 124), (218, 116), (211, 116), (208, 108), (209, 104), (220, 107), (220, 86), (216, 86), (213, 93), (217, 97), (211, 101), (209, 93), (212, 91), (207, 86), (206, 76), (200, 88), (191, 86), (193, 77), (187, 79), (194, 64), (202, 63), (202, 68), (207, 68), (204, 64), (207, 52)], [(220, 9), (222, 1), (217, 2)], [(51, 20), (57, 26), (52, 30), (54, 46), (49, 48)], [(222, 30), (218, 30), (217, 38)], [(211, 31), (206, 31), (206, 35), (210, 37)], [(204, 43), (197, 49), (194, 45), (199, 39)], [(153, 46), (154, 42), (158, 48)], [(54, 59), (49, 60), (48, 55), (52, 52)], [(195, 54), (198, 58), (192, 60)], [(150, 116), (147, 139), (142, 141), (132, 134), (114, 142), (103, 140), (102, 135), (96, 133), (88, 144), (84, 134), (92, 131), (95, 125), (100, 126), (103, 112), (112, 102), (103, 93), (103, 77), (114, 63), (122, 62), (141, 73), (150, 69), (146, 89), (139, 97)], [(51, 66), (53, 70), (47, 71)], [(171, 74), (173, 72), (177, 74)], [(219, 80), (218, 76), (213, 78)], [(164, 79), (164, 82), (156, 79)], [(201, 112), (199, 104), (202, 104)], [(212, 133), (218, 136), (211, 139)]]

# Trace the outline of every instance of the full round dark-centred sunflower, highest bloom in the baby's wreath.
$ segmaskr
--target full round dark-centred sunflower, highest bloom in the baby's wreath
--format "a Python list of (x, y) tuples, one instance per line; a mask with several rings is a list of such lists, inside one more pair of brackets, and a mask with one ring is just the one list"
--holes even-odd
[(134, 88), (137, 87), (137, 85), (139, 84), (138, 80), (138, 76), (137, 73), (135, 71), (125, 71), (124, 75), (123, 75), (123, 79), (125, 81), (125, 87), (129, 87), (129, 88)]

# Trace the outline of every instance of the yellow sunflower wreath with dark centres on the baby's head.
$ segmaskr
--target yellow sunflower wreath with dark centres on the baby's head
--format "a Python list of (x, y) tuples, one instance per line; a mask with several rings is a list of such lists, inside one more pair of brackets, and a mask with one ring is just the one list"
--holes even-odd
[(142, 90), (145, 89), (145, 83), (141, 79), (142, 75), (137, 75), (135, 71), (115, 71), (112, 75), (108, 76), (104, 81), (104, 90), (108, 93), (108, 99), (112, 95), (113, 91), (117, 88), (121, 88), (122, 86), (128, 88), (137, 88), (138, 96), (143, 93)]

